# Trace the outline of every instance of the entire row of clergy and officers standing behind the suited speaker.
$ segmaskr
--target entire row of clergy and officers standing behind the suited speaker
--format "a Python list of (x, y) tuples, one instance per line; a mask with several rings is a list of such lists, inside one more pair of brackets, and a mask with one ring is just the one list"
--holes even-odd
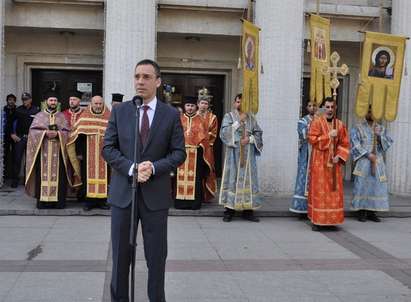
[[(59, 99), (50, 92), (42, 110), (23, 93), (23, 105), (7, 96), (3, 114), (6, 176), (17, 187), (25, 161), (26, 192), (37, 207), (64, 208), (66, 199), (77, 200), (84, 210), (109, 209), (106, 203), (110, 168), (101, 156), (110, 110), (101, 96), (80, 106), (82, 94), (73, 91), (69, 108), (60, 111)], [(206, 88), (198, 96), (183, 98), (181, 124), (187, 158), (170, 175), (171, 194), (177, 209), (198, 210), (202, 204), (218, 201), (224, 207), (223, 220), (237, 213), (258, 222), (255, 210), (262, 205), (258, 185), (257, 156), (262, 152), (262, 130), (256, 117), (241, 110), (242, 95), (232, 102), (221, 126), (212, 113), (212, 96)], [(112, 105), (123, 95), (113, 94)], [(308, 218), (314, 231), (344, 222), (343, 166), (351, 154), (354, 162), (352, 210), (358, 219), (379, 222), (379, 211), (389, 210), (385, 152), (392, 145), (385, 127), (369, 110), (366, 118), (348, 131), (336, 117), (337, 104), (326, 98), (320, 109), (309, 102), (297, 125), (298, 170), (290, 211)], [(217, 190), (214, 144), (225, 146), (222, 178)], [(25, 160), (23, 157), (25, 155)]]

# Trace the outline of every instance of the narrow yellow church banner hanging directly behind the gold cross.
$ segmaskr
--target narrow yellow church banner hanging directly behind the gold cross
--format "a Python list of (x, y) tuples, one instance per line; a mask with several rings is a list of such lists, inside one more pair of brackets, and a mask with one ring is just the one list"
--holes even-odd
[(330, 20), (318, 15), (310, 16), (311, 81), (310, 101), (321, 105), (331, 96), (330, 74), (324, 73), (330, 65)]

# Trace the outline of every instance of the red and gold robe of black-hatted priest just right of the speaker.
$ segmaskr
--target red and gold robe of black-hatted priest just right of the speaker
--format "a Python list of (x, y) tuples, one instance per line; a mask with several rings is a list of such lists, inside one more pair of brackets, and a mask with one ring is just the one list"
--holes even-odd
[[(208, 131), (200, 115), (188, 116), (182, 114), (181, 124), (184, 129), (187, 158), (177, 169), (176, 199), (195, 200), (197, 150), (198, 148), (203, 150), (203, 160), (208, 167), (208, 174), (210, 174), (210, 171), (213, 171), (211, 165), (212, 150), (208, 142)], [(217, 188), (209, 177), (207, 177), (203, 186), (205, 187), (203, 192), (205, 195), (204, 200), (206, 201), (210, 196), (215, 195)]]

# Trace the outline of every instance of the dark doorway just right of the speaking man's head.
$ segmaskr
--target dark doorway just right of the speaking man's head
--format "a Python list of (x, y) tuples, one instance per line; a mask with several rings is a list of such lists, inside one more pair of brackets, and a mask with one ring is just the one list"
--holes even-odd
[[(183, 96), (197, 97), (198, 91), (203, 87), (209, 90), (213, 96), (211, 101), (211, 111), (217, 116), (218, 127), (220, 128), (221, 121), (224, 116), (224, 82), (223, 75), (204, 75), (204, 74), (182, 74), (182, 73), (162, 73), (163, 85), (174, 87), (172, 96), (173, 105), (182, 106)], [(160, 98), (166, 99), (163, 90), (160, 89)], [(221, 176), (222, 172), (222, 144), (218, 137), (214, 144), (214, 158), (217, 176)]]

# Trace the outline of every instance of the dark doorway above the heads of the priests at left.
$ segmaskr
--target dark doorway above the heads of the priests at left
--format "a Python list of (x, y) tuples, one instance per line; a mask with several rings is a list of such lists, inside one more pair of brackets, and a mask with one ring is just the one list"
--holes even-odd
[(32, 69), (31, 79), (33, 103), (37, 106), (50, 90), (56, 91), (62, 110), (68, 108), (72, 90), (89, 91), (84, 94), (86, 99), (87, 95), (102, 93), (103, 72), (100, 70)]

